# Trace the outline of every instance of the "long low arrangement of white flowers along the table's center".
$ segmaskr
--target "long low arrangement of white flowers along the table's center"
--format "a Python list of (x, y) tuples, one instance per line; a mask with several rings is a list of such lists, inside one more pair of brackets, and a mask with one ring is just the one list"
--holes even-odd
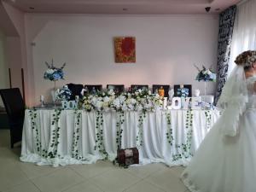
[(162, 108), (163, 101), (158, 94), (150, 90), (137, 90), (134, 93), (123, 92), (116, 95), (113, 90), (86, 95), (79, 106), (86, 111), (154, 111)]

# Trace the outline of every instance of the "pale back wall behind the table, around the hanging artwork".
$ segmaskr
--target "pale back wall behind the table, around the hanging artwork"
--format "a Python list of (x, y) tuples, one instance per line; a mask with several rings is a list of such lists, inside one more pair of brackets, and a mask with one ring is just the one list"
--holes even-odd
[[(137, 62), (114, 63), (113, 37), (136, 37)], [(66, 80), (82, 84), (192, 84), (196, 69), (217, 65), (218, 15), (26, 15), (26, 44), (35, 96), (49, 96), (44, 61), (65, 67)], [(32, 46), (31, 43), (35, 45)], [(208, 93), (215, 83), (208, 84)]]

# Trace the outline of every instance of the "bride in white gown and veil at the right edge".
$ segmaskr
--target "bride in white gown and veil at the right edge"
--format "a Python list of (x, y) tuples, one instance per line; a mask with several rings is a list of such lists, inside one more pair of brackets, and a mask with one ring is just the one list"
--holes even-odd
[(222, 115), (181, 175), (192, 192), (256, 191), (256, 51), (235, 62), (218, 101)]

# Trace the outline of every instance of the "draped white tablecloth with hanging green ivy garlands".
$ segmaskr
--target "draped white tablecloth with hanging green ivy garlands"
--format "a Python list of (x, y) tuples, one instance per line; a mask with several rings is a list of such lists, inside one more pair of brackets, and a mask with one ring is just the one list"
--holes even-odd
[(90, 164), (114, 160), (119, 146), (139, 148), (140, 164), (186, 165), (218, 116), (216, 110), (26, 110), (20, 160)]

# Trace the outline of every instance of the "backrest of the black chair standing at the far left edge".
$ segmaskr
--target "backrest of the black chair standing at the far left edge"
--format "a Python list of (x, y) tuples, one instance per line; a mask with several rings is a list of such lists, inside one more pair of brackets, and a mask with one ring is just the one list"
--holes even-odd
[(10, 123), (15, 123), (24, 119), (25, 103), (19, 88), (0, 90), (3, 105), (9, 117)]

